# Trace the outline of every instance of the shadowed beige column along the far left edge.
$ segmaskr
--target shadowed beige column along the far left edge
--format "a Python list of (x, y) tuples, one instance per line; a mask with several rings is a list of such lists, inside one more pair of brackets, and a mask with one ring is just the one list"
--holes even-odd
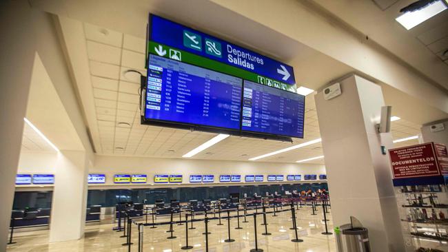
[(0, 251), (6, 251), (34, 43), (28, 1), (0, 3)]

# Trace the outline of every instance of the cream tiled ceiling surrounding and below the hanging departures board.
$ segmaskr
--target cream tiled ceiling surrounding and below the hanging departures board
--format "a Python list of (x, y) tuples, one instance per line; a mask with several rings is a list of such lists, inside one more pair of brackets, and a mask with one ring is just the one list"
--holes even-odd
[[(215, 134), (190, 132), (183, 129), (152, 127), (140, 124), (139, 76), (124, 76), (125, 71), (145, 71), (145, 40), (84, 24), (90, 60), (90, 74), (94, 94), (96, 119), (101, 146), (99, 154), (123, 156), (151, 156), (181, 158), (191, 149), (205, 143)], [(392, 123), (394, 139), (420, 133), (418, 125), (404, 120)], [(231, 136), (221, 143), (194, 156), (214, 160), (247, 160), (294, 144), (320, 138), (313, 95), (307, 96), (305, 107), (305, 138), (294, 138), (294, 143)], [(403, 144), (407, 145), (410, 142)], [(98, 143), (96, 143), (98, 145)], [(294, 162), (323, 155), (320, 143), (288, 151), (263, 161)], [(314, 160), (323, 163), (323, 160)]]

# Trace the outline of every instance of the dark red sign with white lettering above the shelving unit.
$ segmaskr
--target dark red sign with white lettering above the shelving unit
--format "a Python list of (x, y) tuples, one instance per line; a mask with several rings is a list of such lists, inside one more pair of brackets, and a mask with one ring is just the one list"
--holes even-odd
[(425, 143), (390, 149), (394, 178), (414, 178), (448, 174), (447, 147), (441, 144)]

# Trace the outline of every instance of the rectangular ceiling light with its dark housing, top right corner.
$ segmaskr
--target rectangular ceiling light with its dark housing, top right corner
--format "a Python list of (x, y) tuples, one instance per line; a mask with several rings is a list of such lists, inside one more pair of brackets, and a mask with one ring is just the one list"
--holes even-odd
[(445, 0), (420, 0), (401, 9), (400, 12), (405, 13), (395, 20), (403, 25), (406, 30), (410, 30), (431, 17), (436, 16), (436, 14), (447, 10), (447, 8), (448, 6)]

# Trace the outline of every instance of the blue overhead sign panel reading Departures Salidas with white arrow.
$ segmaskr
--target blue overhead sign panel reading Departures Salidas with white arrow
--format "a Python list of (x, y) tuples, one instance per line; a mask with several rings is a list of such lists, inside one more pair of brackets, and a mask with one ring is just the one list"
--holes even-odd
[[(207, 59), (254, 72), (261, 75), (261, 78), (265, 76), (289, 85), (296, 83), (293, 68), (285, 63), (154, 14), (150, 14), (149, 39)], [(166, 51), (161, 50), (159, 54), (165, 55), (166, 53)]]

